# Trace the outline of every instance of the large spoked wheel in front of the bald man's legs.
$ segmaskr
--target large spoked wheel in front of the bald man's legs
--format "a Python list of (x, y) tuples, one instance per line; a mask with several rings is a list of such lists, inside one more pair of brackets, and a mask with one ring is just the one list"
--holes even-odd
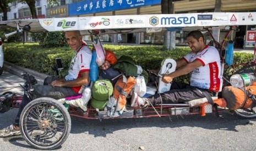
[(48, 97), (29, 102), (20, 115), (21, 135), (37, 149), (55, 149), (67, 140), (70, 115), (63, 104)]

